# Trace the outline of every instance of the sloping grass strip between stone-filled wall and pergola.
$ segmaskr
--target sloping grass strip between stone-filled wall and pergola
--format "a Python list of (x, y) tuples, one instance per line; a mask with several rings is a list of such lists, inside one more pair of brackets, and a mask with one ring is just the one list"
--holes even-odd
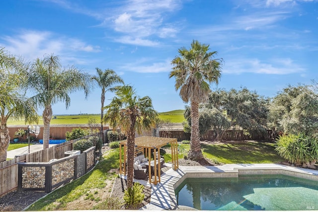
[[(85, 207), (93, 207), (93, 205), (102, 202), (99, 193), (102, 193), (102, 189), (106, 187), (107, 181), (113, 182), (117, 174), (112, 169), (118, 169), (118, 167), (119, 148), (110, 150), (92, 171), (68, 183), (64, 187), (51, 192), (43, 199), (32, 204), (27, 211), (81, 210), (84, 209), (83, 205), (86, 205)], [(112, 185), (108, 186), (111, 187)], [(69, 209), (70, 206), (68, 205), (77, 201), (79, 203), (74, 204), (72, 209)]]

